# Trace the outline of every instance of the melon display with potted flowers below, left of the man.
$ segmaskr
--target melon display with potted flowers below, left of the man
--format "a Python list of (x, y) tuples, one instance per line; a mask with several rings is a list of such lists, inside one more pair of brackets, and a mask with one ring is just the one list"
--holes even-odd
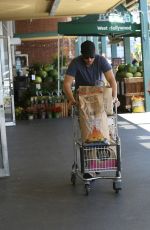
[[(60, 59), (60, 64), (61, 62)], [(65, 59), (63, 59), (63, 66), (61, 67), (61, 70), (65, 71)], [(61, 117), (67, 116), (66, 98), (62, 92), (64, 75), (62, 71), (58, 95), (58, 58), (55, 58), (50, 64), (35, 63), (29, 67), (28, 72), (26, 87), (20, 94), (16, 87), (16, 118), (26, 119), (28, 115), (30, 117), (32, 115), (32, 119), (33, 117), (48, 118), (51, 114), (53, 114), (52, 117), (55, 117), (54, 114), (58, 115), (58, 113)]]

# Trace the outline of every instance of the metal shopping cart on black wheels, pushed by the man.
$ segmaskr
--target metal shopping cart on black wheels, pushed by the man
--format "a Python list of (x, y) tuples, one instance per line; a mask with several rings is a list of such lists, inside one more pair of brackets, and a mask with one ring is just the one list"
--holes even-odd
[(79, 112), (72, 109), (74, 162), (72, 165), (71, 182), (76, 184), (77, 177), (84, 182), (85, 194), (91, 190), (91, 183), (97, 179), (111, 179), (113, 189), (118, 193), (122, 189), (121, 178), (121, 142), (117, 128), (117, 106), (114, 113), (107, 116), (111, 143), (83, 143), (79, 127)]

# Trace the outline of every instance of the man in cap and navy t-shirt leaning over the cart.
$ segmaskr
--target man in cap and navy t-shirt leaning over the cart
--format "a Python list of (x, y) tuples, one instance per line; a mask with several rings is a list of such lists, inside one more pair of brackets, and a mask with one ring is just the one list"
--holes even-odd
[(102, 80), (104, 74), (110, 87), (114, 102), (117, 101), (117, 84), (112, 72), (111, 65), (100, 55), (95, 53), (95, 45), (91, 41), (85, 41), (81, 44), (81, 55), (74, 58), (68, 66), (64, 79), (64, 93), (66, 94), (70, 108), (76, 104), (72, 93), (72, 84), (75, 80), (75, 89), (81, 86), (96, 85), (98, 80)]

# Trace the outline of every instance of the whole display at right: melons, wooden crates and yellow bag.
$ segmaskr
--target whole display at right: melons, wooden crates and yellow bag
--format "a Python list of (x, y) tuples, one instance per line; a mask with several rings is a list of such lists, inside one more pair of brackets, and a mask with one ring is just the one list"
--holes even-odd
[[(118, 85), (118, 99), (120, 101), (120, 106), (118, 108), (118, 111), (119, 112), (141, 111), (141, 108), (137, 108), (139, 107), (139, 102), (137, 103), (137, 101), (135, 101), (135, 98), (136, 100), (137, 99), (139, 100), (139, 98), (141, 100), (142, 98), (142, 103), (143, 103), (144, 84), (143, 84), (142, 62), (119, 65), (116, 72), (116, 80)], [(136, 108), (134, 109), (132, 109), (133, 104), (136, 104)]]

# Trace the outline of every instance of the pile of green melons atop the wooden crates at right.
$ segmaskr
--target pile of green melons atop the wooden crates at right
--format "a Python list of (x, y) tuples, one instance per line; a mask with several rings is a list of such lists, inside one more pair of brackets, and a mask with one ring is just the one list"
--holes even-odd
[(133, 78), (133, 77), (143, 77), (143, 65), (142, 62), (132, 64), (121, 64), (118, 66), (116, 72), (116, 80), (121, 81), (122, 78)]

